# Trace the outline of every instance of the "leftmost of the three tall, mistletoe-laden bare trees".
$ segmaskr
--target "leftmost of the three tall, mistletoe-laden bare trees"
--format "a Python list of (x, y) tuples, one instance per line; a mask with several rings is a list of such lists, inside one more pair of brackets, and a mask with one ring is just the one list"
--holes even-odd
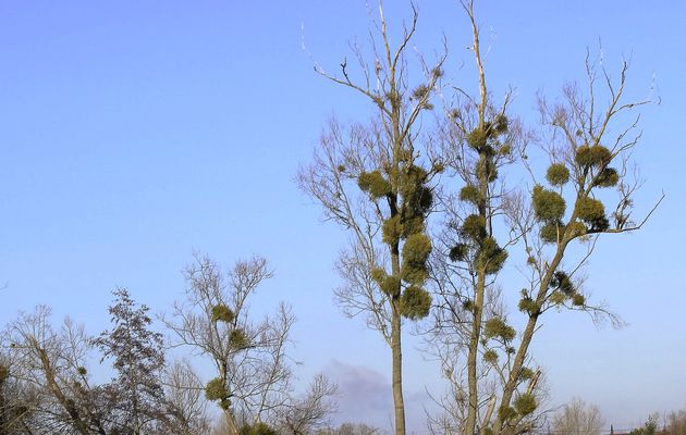
[[(370, 121), (350, 127), (332, 121), (314, 162), (297, 179), (326, 217), (351, 236), (336, 263), (343, 285), (335, 295), (346, 314), (366, 315), (367, 325), (381, 333), (391, 349), (395, 433), (403, 435), (402, 324), (403, 318), (425, 318), (431, 306), (424, 287), (431, 252), (426, 219), (433, 203), (432, 178), (442, 171), (426, 151), (420, 126), (427, 120), (422, 114), (433, 108), (445, 54), (430, 66), (419, 57), (420, 78), (411, 77), (407, 50), (416, 32), (416, 9), (396, 45), (381, 3), (373, 25), (369, 55), (353, 46), (357, 74), (346, 60), (339, 74), (315, 67), (365, 97)], [(417, 86), (411, 87), (411, 82)]]

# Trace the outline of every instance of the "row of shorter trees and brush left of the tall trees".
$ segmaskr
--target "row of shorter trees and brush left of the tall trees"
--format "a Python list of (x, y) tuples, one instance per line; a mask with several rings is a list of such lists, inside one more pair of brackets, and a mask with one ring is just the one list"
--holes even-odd
[[(336, 388), (317, 375), (294, 394), (289, 307), (259, 322), (249, 314), (250, 296), (271, 277), (266, 260), (224, 273), (196, 258), (185, 276), (185, 299), (160, 318), (169, 340), (124, 288), (113, 291), (111, 328), (97, 336), (70, 318), (54, 323), (48, 307), (9, 322), (0, 333), (0, 435), (301, 435), (327, 427)], [(173, 360), (177, 347), (211, 363), (213, 377), (192, 360)], [(98, 362), (106, 369), (95, 375)], [(110, 381), (97, 381), (106, 374)]]

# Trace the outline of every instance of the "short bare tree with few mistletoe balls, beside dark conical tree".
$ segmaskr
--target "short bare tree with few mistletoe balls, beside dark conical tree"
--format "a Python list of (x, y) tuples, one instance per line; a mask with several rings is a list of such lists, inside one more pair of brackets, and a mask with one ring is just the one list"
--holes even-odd
[(196, 258), (185, 271), (185, 302), (162, 316), (177, 346), (209, 357), (217, 372), (205, 387), (207, 399), (222, 409), (232, 435), (240, 424), (271, 419), (287, 401), (291, 371), (285, 346), (294, 318), (285, 306), (275, 316), (254, 322), (249, 297), (272, 276), (267, 261), (237, 262), (223, 274), (208, 258)]

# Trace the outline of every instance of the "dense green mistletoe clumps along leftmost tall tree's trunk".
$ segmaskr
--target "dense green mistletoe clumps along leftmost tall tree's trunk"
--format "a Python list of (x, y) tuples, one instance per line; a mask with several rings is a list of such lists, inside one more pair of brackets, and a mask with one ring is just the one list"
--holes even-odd
[(428, 181), (429, 173), (413, 163), (389, 167), (385, 176), (372, 171), (363, 172), (357, 178), (359, 188), (372, 200), (387, 200), (389, 204), (389, 216), (382, 223), (382, 241), (394, 254), (401, 253), (402, 245), (400, 270), (389, 273), (375, 268), (371, 276), (384, 295), (400, 302), (400, 313), (412, 320), (427, 316), (431, 307), (431, 296), (424, 287), (431, 253), (425, 221), (433, 203)]

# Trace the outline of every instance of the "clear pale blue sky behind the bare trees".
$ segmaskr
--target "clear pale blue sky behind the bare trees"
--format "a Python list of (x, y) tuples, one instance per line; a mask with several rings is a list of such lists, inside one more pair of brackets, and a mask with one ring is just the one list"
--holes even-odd
[[(408, 16), (406, 2), (387, 3), (391, 25)], [(457, 2), (422, 0), (419, 11), (417, 48), (432, 53), (445, 33), (448, 76), (474, 84)], [(492, 91), (512, 86), (525, 119), (538, 90), (553, 98), (584, 78), (599, 40), (611, 70), (630, 57), (632, 96), (654, 78), (661, 104), (642, 111), (638, 203), (666, 199), (645, 231), (601, 241), (588, 269), (588, 287), (628, 326), (552, 315), (535, 357), (553, 405), (581, 397), (615, 428), (686, 408), (686, 3), (491, 0), (477, 14)], [(298, 373), (336, 377), (340, 419), (388, 425), (384, 345), (332, 304), (344, 236), (293, 183), (331, 114), (369, 114), (313, 71), (313, 59), (335, 70), (368, 25), (363, 0), (0, 0), (0, 323), (47, 303), (98, 332), (117, 286), (162, 311), (194, 251), (225, 264), (261, 254), (275, 277), (255, 308), (293, 304)], [(420, 433), (425, 385), (441, 384), (408, 343), (409, 425)]]

